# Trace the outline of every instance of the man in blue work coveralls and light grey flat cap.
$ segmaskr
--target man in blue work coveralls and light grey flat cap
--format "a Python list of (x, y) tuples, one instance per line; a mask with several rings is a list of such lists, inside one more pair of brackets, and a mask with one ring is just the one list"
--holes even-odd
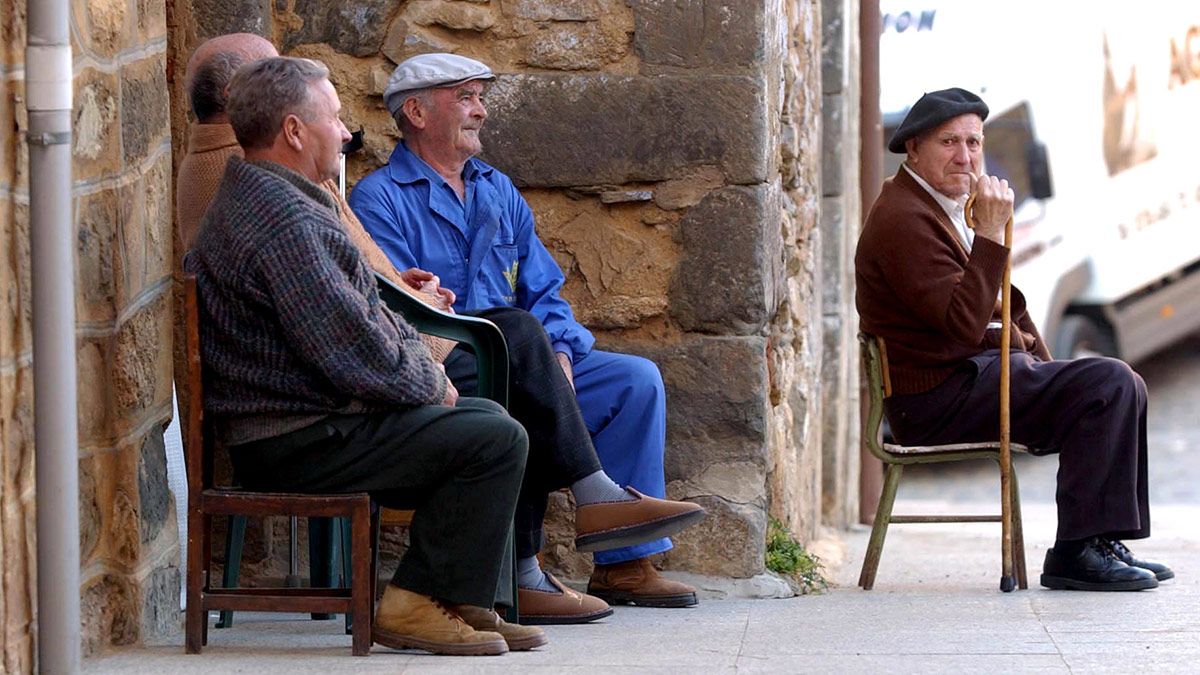
[[(355, 186), (350, 207), (397, 269), (420, 268), (437, 275), (430, 282), (452, 292), (456, 311), (496, 321), (510, 345), (514, 336), (504, 315), (488, 312), (518, 307), (536, 317), (565, 381), (557, 372), (542, 381), (522, 381), (522, 374), (514, 372), (512, 387), (553, 398), (559, 395), (553, 393), (557, 378), (568, 401), (574, 387), (570, 406), (574, 410), (577, 401), (605, 473), (622, 485), (662, 497), (666, 399), (658, 368), (641, 357), (593, 348), (595, 339), (559, 295), (563, 273), (538, 239), (529, 205), (506, 175), (474, 157), (482, 149), (479, 130), (487, 118), (482, 92), (492, 79), (485, 64), (454, 54), (422, 54), (397, 66), (384, 101), (403, 141), (386, 166)], [(463, 358), (451, 354), (446, 371), (460, 389), (467, 384), (467, 393), (469, 383), (461, 384), (456, 375), (470, 372), (458, 364)], [(530, 422), (536, 420), (522, 419), (516, 406), (512, 414), (533, 438)], [(528, 603), (544, 604), (533, 593), (559, 589), (538, 567), (535, 556), (544, 513), (545, 507), (527, 514), (539, 521), (536, 540), (526, 546), (520, 510), (517, 515), (522, 619)], [(668, 549), (671, 540), (661, 538), (595, 551), (588, 592), (614, 604), (695, 604), (694, 589), (664, 579), (648, 560)], [(566, 614), (553, 622), (574, 622)]]

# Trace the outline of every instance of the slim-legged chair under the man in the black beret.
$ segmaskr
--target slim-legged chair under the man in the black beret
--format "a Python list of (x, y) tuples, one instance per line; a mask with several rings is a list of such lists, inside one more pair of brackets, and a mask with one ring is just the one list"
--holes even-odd
[[(892, 382), (888, 377), (887, 346), (883, 340), (868, 333), (858, 334), (862, 353), (863, 376), (866, 380), (866, 413), (863, 416), (863, 441), (875, 456), (883, 461), (883, 494), (875, 512), (875, 525), (871, 527), (871, 539), (863, 560), (863, 571), (858, 585), (870, 591), (875, 586), (875, 572), (883, 554), (883, 539), (888, 525), (893, 522), (1000, 522), (1000, 515), (893, 515), (896, 489), (904, 467), (911, 464), (938, 464), (964, 460), (992, 460), (1000, 466), (1000, 443), (955, 443), (948, 446), (900, 446), (884, 443), (882, 435), (883, 399), (892, 395)], [(997, 394), (998, 395), (998, 394)], [(1025, 446), (1012, 443), (1012, 450), (1028, 452)], [(998, 485), (997, 485), (998, 491)], [(1016, 568), (1016, 581), (1021, 589), (1028, 587), (1025, 573), (1025, 539), (1021, 533), (1021, 501), (1016, 485), (1016, 471), (1013, 471), (1013, 557)]]

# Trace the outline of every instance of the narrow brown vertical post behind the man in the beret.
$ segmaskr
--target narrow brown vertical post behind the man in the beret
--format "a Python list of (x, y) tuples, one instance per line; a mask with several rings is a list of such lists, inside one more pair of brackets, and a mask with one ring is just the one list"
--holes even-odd
[[(880, 35), (883, 32), (883, 17), (880, 14), (880, 0), (863, 0), (858, 14), (859, 80), (862, 82), (862, 100), (859, 103), (859, 197), (863, 201), (863, 221), (866, 213), (880, 196), (883, 185), (883, 117), (880, 113)], [(866, 407), (866, 396), (859, 396)], [(858, 473), (858, 520), (871, 522), (875, 509), (880, 506), (880, 492), (883, 490), (883, 462), (866, 449), (863, 438)]]

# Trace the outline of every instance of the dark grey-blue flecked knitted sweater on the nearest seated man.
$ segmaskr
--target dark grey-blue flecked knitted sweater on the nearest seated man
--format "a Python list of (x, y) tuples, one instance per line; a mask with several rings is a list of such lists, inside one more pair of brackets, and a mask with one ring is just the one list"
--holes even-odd
[(226, 444), (445, 395), (332, 199), (295, 172), (230, 159), (185, 267), (199, 295), (204, 411)]

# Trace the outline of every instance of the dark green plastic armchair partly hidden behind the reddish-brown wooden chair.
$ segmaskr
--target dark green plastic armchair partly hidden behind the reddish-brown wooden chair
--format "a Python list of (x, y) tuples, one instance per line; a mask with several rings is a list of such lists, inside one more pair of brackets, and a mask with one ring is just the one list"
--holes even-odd
[[(394, 312), (404, 317), (416, 330), (426, 335), (445, 338), (468, 346), (475, 353), (476, 395), (509, 407), (509, 348), (504, 334), (494, 323), (478, 317), (444, 312), (426, 305), (416, 297), (401, 289), (386, 277), (376, 274), (379, 297)], [(295, 521), (295, 519), (292, 519)], [(342, 551), (350, 550), (350, 527), (344, 519), (308, 519), (308, 560), (311, 583), (314, 586), (349, 586), (350, 561)], [(376, 519), (373, 551), (378, 557), (378, 520)], [(295, 524), (293, 522), (293, 532)], [(238, 585), (241, 571), (241, 555), (246, 533), (246, 516), (234, 515), (229, 519), (226, 534), (226, 567), (222, 584), (227, 589)], [(512, 554), (511, 592), (512, 602), (505, 613), (505, 620), (517, 622), (517, 573), (514, 530), (509, 527), (509, 550)], [(293, 537), (293, 546), (295, 539)], [(341, 578), (338, 579), (338, 573)], [(328, 615), (314, 614), (313, 619), (330, 619)], [(233, 611), (223, 610), (217, 621), (217, 628), (233, 626)], [(350, 633), (350, 617), (346, 617), (346, 632)]]

